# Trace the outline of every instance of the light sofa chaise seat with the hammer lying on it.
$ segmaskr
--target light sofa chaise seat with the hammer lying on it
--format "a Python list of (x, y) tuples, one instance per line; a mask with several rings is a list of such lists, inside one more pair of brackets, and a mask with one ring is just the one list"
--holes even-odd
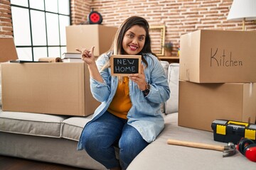
[(255, 170), (255, 162), (248, 161), (240, 153), (223, 158), (223, 153), (216, 150), (168, 145), (169, 139), (220, 146), (227, 143), (214, 141), (213, 132), (178, 126), (178, 113), (164, 115), (164, 122), (165, 127), (161, 134), (137, 155), (127, 170)]

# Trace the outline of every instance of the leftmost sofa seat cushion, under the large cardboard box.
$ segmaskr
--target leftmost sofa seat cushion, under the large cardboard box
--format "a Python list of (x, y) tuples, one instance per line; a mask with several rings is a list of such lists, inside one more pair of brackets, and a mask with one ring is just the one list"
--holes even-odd
[(0, 111), (0, 131), (44, 137), (60, 137), (64, 115)]

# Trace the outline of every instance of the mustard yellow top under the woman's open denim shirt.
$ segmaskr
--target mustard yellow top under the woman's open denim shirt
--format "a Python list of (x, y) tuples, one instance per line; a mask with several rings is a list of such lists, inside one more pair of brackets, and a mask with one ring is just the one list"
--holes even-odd
[(119, 81), (117, 92), (107, 109), (113, 115), (119, 118), (127, 119), (127, 113), (132, 107), (131, 99), (129, 98), (129, 79), (123, 77), (124, 81)]

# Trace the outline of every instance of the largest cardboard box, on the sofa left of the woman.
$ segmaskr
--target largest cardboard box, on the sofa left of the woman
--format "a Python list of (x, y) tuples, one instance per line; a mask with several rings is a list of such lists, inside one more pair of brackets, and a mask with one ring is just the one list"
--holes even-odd
[(4, 63), (3, 111), (90, 115), (100, 105), (90, 91), (87, 64)]

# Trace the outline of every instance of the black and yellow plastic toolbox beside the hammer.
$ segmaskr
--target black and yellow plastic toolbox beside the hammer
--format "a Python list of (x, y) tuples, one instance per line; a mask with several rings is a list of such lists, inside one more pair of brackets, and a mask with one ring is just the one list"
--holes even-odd
[(211, 128), (213, 130), (213, 138), (218, 142), (238, 144), (242, 137), (256, 142), (256, 124), (216, 119), (211, 124)]

